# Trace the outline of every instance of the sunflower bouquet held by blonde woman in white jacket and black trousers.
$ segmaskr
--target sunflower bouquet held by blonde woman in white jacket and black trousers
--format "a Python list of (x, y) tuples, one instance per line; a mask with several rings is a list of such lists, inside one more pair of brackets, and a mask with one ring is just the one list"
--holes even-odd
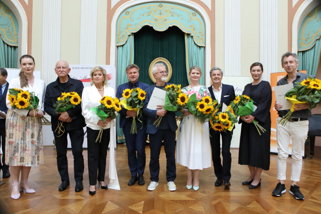
[[(90, 108), (90, 110), (95, 112), (102, 121), (105, 121), (109, 116), (111, 117), (111, 119), (115, 119), (115, 112), (119, 112), (121, 110), (121, 104), (117, 97), (113, 99), (109, 96), (104, 96), (99, 100), (99, 102), (99, 106), (92, 107)], [(101, 141), (102, 132), (103, 128), (100, 128), (98, 136), (96, 138), (96, 142), (98, 140), (99, 142)]]

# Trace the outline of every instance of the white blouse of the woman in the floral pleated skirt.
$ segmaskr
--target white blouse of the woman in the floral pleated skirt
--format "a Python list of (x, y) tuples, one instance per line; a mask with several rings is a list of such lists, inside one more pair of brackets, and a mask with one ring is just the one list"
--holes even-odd
[[(33, 82), (33, 87), (28, 83), (27, 87), (21, 88), (21, 86), (20, 86), (20, 77), (13, 78), (10, 81), (8, 92), (7, 92), (7, 96), (9, 94), (9, 89), (13, 89), (13, 88), (22, 89), (22, 90), (28, 90), (29, 92), (35, 92), (35, 95), (39, 98), (38, 110), (44, 111), (43, 105), (44, 105), (44, 102), (45, 102), (46, 85), (45, 85), (45, 82), (43, 80), (40, 80), (40, 79), (35, 77), (34, 82)], [(7, 100), (7, 107), (9, 109), (11, 109), (10, 101), (8, 100), (8, 98), (6, 98), (6, 100)], [(23, 115), (23, 116), (27, 116), (28, 112), (29, 112), (29, 110), (27, 110), (27, 109), (19, 109), (19, 108), (15, 108), (15, 109), (12, 109), (12, 110), (14, 112), (16, 112), (17, 114)]]

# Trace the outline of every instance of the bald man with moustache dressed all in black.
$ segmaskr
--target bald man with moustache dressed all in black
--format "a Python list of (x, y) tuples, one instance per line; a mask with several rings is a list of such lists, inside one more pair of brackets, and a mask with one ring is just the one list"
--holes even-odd
[[(64, 112), (56, 114), (53, 105), (62, 92), (77, 92), (82, 96), (83, 84), (79, 80), (70, 78), (70, 68), (66, 61), (58, 61), (56, 63), (55, 72), (58, 75), (56, 81), (47, 85), (45, 95), (45, 112), (51, 116), (51, 128), (54, 132), (56, 151), (57, 151), (57, 167), (61, 177), (59, 191), (64, 191), (69, 185), (68, 160), (67, 160), (67, 135), (71, 141), (72, 152), (74, 156), (74, 179), (76, 182), (75, 192), (83, 190), (82, 175), (84, 171), (84, 163), (82, 156), (83, 143), (83, 127), (86, 126), (85, 119), (82, 116), (81, 105), (71, 108)], [(58, 123), (63, 122), (64, 133), (55, 132)]]

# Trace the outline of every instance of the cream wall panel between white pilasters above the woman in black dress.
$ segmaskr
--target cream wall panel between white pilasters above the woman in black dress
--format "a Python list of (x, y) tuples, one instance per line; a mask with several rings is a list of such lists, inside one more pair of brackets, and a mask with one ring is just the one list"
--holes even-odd
[(260, 1), (241, 1), (241, 75), (250, 76), (250, 65), (260, 61)]

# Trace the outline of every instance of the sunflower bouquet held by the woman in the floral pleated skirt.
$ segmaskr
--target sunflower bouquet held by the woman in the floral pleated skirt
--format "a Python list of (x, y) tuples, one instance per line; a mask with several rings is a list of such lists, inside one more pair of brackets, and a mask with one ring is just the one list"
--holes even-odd
[[(10, 106), (12, 109), (19, 108), (34, 110), (39, 104), (39, 98), (35, 96), (34, 92), (16, 88), (9, 89), (8, 100), (10, 101)], [(45, 122), (45, 124), (50, 123), (50, 121), (44, 116), (42, 116), (41, 119)]]

